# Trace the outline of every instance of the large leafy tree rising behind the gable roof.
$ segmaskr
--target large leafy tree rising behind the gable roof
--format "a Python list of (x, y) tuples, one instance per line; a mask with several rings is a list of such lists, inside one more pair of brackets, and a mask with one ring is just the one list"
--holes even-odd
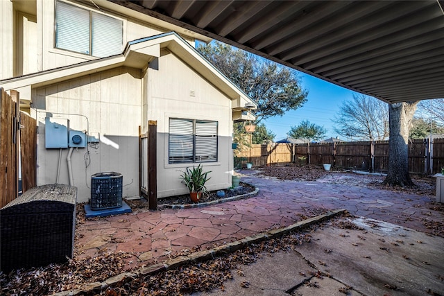
[(296, 110), (306, 101), (308, 92), (300, 87), (294, 69), (221, 42), (200, 44), (197, 50), (256, 101), (256, 123)]

